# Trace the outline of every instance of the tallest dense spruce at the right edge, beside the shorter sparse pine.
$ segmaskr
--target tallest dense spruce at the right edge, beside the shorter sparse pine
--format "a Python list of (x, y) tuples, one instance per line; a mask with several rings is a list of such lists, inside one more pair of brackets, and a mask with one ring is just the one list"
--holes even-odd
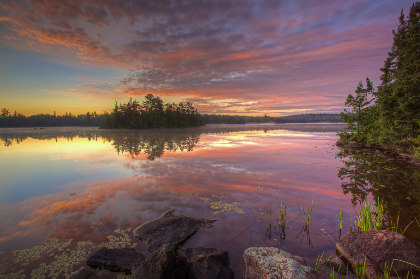
[(394, 44), (375, 93), (378, 119), (370, 141), (407, 147), (420, 143), (420, 2), (399, 16)]

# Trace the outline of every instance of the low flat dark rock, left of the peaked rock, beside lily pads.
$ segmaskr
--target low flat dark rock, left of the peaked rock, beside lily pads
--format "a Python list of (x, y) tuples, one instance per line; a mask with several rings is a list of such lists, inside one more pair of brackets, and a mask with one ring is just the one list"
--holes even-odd
[[(101, 248), (89, 257), (86, 264), (92, 268), (104, 266), (113, 271), (131, 274), (131, 266), (146, 258), (134, 248), (108, 249)], [(95, 266), (95, 267), (93, 267)]]

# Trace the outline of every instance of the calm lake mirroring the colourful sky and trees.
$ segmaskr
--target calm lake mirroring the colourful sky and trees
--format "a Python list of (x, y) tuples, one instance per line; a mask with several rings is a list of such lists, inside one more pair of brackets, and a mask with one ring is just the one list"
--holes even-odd
[[(400, 212), (402, 229), (420, 221), (419, 168), (374, 149), (336, 146), (343, 128), (0, 129), (0, 278), (65, 278), (90, 269), (85, 261), (99, 247), (135, 246), (148, 256), (132, 230), (168, 209), (218, 220), (183, 248), (227, 250), (235, 278), (243, 276), (249, 247), (281, 248), (311, 267), (322, 253), (335, 257), (322, 230), (338, 240), (340, 212), (344, 235), (365, 198), (386, 202), (386, 221)], [(283, 231), (274, 227), (282, 204)], [(304, 230), (302, 207), (307, 214), (311, 205)], [(417, 224), (404, 235), (420, 247)]]

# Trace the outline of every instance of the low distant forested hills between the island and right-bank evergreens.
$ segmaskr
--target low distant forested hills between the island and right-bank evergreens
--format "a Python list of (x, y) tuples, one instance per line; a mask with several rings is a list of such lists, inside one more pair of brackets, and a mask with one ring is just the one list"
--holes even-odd
[(341, 123), (340, 114), (295, 114), (288, 116), (244, 116), (200, 114), (203, 124), (248, 124), (248, 123)]

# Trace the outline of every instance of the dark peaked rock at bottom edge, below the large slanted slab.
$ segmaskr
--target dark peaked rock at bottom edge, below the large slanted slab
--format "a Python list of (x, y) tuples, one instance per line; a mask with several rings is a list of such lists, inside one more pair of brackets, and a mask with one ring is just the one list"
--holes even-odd
[(173, 247), (163, 245), (144, 261), (134, 264), (134, 279), (186, 279), (188, 261), (185, 256), (176, 256)]

